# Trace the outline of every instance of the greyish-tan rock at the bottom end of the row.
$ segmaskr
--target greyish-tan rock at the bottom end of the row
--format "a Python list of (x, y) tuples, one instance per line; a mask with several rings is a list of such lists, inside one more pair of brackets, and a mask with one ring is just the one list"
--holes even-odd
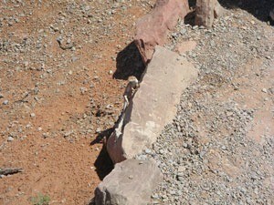
[(162, 180), (155, 161), (127, 159), (116, 164), (95, 190), (95, 204), (146, 205)]

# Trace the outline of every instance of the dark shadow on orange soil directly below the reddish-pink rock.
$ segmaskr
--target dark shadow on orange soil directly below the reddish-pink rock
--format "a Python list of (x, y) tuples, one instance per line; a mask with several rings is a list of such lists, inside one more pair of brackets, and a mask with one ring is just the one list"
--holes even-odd
[(140, 79), (144, 68), (145, 65), (142, 63), (142, 56), (135, 43), (132, 42), (117, 55), (116, 71), (113, 77), (128, 79), (128, 77), (134, 76)]

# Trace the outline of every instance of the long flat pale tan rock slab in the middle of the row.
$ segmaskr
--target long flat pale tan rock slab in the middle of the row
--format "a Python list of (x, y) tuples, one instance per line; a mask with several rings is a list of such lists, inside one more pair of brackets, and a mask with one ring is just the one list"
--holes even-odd
[(162, 46), (155, 47), (140, 88), (125, 109), (121, 135), (114, 131), (107, 142), (114, 163), (131, 159), (153, 144), (174, 118), (183, 90), (196, 77), (197, 70), (183, 56)]

